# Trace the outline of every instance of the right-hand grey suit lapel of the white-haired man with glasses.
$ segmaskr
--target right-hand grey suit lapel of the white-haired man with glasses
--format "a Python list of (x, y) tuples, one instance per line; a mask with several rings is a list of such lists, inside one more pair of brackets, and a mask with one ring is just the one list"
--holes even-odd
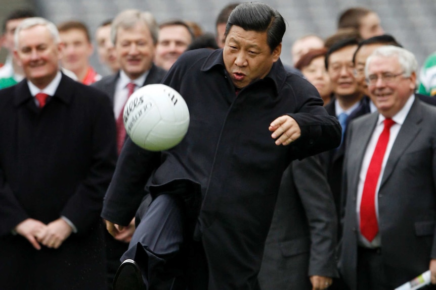
[(389, 179), (393, 172), (398, 160), (403, 155), (404, 151), (413, 142), (416, 135), (421, 131), (419, 123), (422, 121), (421, 104), (415, 99), (400, 132), (398, 132), (397, 139), (395, 139), (394, 145), (387, 158), (386, 167), (384, 168), (383, 177), (381, 179), (380, 188)]

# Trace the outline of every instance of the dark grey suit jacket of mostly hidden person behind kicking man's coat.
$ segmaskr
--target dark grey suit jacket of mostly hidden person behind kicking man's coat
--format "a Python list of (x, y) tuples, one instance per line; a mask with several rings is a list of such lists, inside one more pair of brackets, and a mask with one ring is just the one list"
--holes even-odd
[(283, 173), (258, 275), (261, 289), (312, 289), (309, 276), (337, 277), (333, 196), (316, 157)]

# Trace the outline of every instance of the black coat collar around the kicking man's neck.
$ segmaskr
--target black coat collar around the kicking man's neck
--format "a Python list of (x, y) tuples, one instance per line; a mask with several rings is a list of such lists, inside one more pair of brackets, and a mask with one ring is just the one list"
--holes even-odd
[[(209, 71), (214, 67), (219, 67), (221, 69), (226, 70), (226, 66), (224, 65), (223, 59), (223, 48), (212, 50), (203, 66), (201, 67), (201, 71)], [(280, 90), (280, 88), (284, 85), (287, 77), (287, 72), (283, 67), (281, 60), (279, 59), (277, 62), (273, 64), (271, 71), (264, 78), (264, 80), (271, 80), (274, 83), (274, 88), (276, 90), (276, 94)]]

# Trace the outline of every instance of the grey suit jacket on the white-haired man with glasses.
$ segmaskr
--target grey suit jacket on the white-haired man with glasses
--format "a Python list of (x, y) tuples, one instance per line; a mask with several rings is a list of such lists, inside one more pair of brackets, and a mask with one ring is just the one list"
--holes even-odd
[[(344, 161), (345, 216), (339, 270), (357, 289), (359, 172), (378, 113), (351, 123)], [(390, 288), (428, 270), (436, 258), (436, 108), (415, 99), (387, 159), (378, 193), (384, 279)]]

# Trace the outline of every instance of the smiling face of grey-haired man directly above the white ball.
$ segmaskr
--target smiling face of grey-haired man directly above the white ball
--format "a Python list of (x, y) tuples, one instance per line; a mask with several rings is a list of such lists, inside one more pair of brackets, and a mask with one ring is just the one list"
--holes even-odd
[(138, 22), (134, 27), (118, 28), (115, 54), (124, 73), (132, 80), (151, 69), (155, 45), (148, 27)]

